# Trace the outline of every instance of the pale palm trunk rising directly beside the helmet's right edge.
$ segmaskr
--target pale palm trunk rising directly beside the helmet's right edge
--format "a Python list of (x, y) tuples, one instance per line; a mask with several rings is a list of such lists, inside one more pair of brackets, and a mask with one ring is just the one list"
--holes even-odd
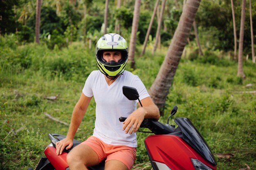
[(130, 51), (128, 60), (131, 62), (131, 68), (135, 69), (135, 61), (134, 61), (134, 54), (135, 54), (135, 46), (136, 46), (136, 38), (137, 38), (137, 31), (139, 26), (139, 7), (141, 4), (141, 0), (135, 0), (135, 7), (133, 12), (133, 19), (132, 19), (132, 33), (130, 38)]

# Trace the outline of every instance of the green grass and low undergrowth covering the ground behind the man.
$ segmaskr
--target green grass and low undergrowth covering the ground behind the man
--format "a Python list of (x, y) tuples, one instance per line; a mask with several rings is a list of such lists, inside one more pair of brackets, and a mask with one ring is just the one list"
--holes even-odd
[[(68, 49), (50, 51), (46, 46), (28, 44), (0, 51), (0, 169), (27, 170), (35, 167), (49, 144), (48, 133), (66, 135), (68, 127), (48, 119), (44, 113), (70, 122), (85, 79), (97, 69), (93, 50), (74, 43)], [(138, 75), (150, 88), (165, 57), (166, 49), (136, 57)], [(139, 51), (138, 51), (139, 54)], [(214, 56), (213, 56), (214, 57)], [(234, 154), (218, 159), (219, 170), (256, 169), (256, 97), (234, 91), (255, 91), (255, 64), (244, 61), (246, 79), (236, 77), (237, 64), (226, 59), (184, 58), (177, 69), (160, 121), (166, 123), (174, 105), (175, 117), (188, 117), (202, 133), (213, 153)], [(220, 64), (221, 63), (221, 64)], [(243, 88), (246, 84), (252, 87)], [(120, 92), (121, 93), (121, 92)], [(56, 101), (45, 96), (59, 97)], [(83, 141), (94, 128), (95, 102), (92, 100), (76, 133)], [(170, 120), (174, 123), (173, 119)], [(22, 128), (16, 135), (16, 130)], [(138, 133), (136, 164), (150, 169), (144, 147), (147, 134)]]

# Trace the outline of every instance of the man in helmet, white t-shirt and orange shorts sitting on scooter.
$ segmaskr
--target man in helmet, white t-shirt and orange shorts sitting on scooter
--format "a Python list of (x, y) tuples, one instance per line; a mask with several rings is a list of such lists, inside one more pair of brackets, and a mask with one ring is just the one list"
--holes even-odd
[[(125, 71), (128, 45), (121, 35), (103, 35), (96, 44), (98, 71), (86, 79), (80, 99), (72, 113), (67, 137), (56, 144), (56, 154), (73, 145), (73, 138), (90, 100), (96, 102), (96, 121), (92, 137), (74, 147), (67, 155), (71, 170), (87, 170), (88, 166), (105, 161), (105, 170), (130, 170), (136, 159), (136, 133), (144, 118), (159, 119), (159, 110), (148, 95), (138, 76)], [(128, 100), (122, 86), (137, 89), (143, 107), (138, 101)], [(121, 123), (119, 117), (128, 117)]]

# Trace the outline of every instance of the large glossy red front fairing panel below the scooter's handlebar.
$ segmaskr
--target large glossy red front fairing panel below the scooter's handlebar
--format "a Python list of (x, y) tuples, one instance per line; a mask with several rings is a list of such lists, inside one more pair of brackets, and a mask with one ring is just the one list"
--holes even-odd
[(198, 159), (216, 170), (182, 138), (174, 135), (152, 135), (145, 139), (145, 145), (152, 161), (166, 164), (171, 170), (195, 170), (191, 158)]

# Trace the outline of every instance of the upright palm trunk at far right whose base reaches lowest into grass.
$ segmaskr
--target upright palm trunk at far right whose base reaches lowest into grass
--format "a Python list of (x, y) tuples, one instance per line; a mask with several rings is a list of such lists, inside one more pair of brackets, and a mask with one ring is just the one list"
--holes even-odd
[(240, 34), (239, 34), (239, 52), (238, 52), (238, 71), (237, 75), (245, 78), (243, 71), (243, 44), (244, 44), (244, 31), (245, 31), (245, 4), (246, 0), (242, 0)]

